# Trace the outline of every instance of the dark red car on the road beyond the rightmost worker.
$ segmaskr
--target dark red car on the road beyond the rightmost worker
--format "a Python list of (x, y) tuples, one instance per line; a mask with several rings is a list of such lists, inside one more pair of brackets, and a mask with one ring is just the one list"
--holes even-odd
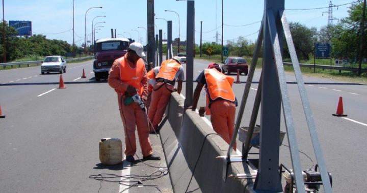
[(237, 73), (240, 70), (240, 74), (244, 73), (246, 76), (248, 74), (248, 64), (243, 57), (228, 57), (222, 65), (222, 73)]

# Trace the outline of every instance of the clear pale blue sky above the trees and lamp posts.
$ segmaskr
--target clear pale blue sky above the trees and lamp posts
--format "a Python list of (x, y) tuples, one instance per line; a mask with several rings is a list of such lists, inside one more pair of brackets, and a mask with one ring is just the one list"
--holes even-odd
[[(261, 0), (223, 0), (224, 1), (224, 44), (227, 40), (236, 40), (243, 36), (248, 40), (257, 39), (257, 31), (264, 13), (264, 2)], [(273, 0), (276, 1), (276, 0)], [(333, 5), (342, 5), (356, 2), (356, 0), (334, 0)], [(325, 0), (286, 0), (285, 9), (312, 9), (312, 10), (286, 10), (289, 22), (300, 22), (308, 27), (318, 27), (327, 25), (328, 6), (330, 1)], [(48, 39), (67, 41), (72, 44), (72, 5), (73, 0), (4, 0), (5, 20), (28, 20), (32, 21), (33, 34), (43, 34)], [(187, 2), (175, 0), (155, 0), (155, 17), (172, 20), (173, 38), (178, 37), (178, 16), (171, 10), (178, 13), (180, 18), (181, 41), (186, 40)], [(351, 5), (333, 8), (333, 17), (342, 19), (348, 16), (347, 10)], [(75, 44), (81, 44), (85, 36), (85, 14), (89, 8), (103, 7), (102, 9), (91, 9), (87, 13), (87, 35), (91, 33), (95, 26), (104, 26), (96, 30), (96, 39), (109, 38), (111, 29), (116, 29), (120, 38), (138, 39), (138, 30), (141, 43), (146, 43), (147, 28), (147, 1), (146, 0), (74, 0), (74, 25)], [(326, 8), (325, 8), (326, 7)], [(325, 8), (325, 9), (316, 9)], [(104, 16), (106, 17), (97, 17)], [(94, 19), (95, 18), (95, 19)], [(93, 27), (92, 20), (94, 19)], [(195, 42), (200, 42), (200, 21), (202, 25), (203, 42), (215, 42), (216, 33), (221, 34), (222, 24), (222, 1), (221, 0), (196, 0), (195, 1)], [(163, 29), (167, 33), (166, 21), (155, 19), (158, 29)], [(251, 24), (253, 23), (253, 24)], [(337, 23), (334, 20), (333, 23)], [(249, 25), (248, 25), (249, 24)], [(237, 26), (233, 26), (237, 25)], [(246, 25), (246, 26), (239, 26)], [(218, 29), (216, 29), (218, 28)], [(216, 30), (215, 30), (216, 29)], [(129, 34), (126, 34), (129, 33)], [(163, 35), (164, 37), (164, 35)], [(167, 38), (167, 34), (166, 34)], [(89, 39), (89, 38), (87, 38)], [(219, 36), (221, 39), (221, 35)], [(220, 42), (220, 41), (219, 41)]]

